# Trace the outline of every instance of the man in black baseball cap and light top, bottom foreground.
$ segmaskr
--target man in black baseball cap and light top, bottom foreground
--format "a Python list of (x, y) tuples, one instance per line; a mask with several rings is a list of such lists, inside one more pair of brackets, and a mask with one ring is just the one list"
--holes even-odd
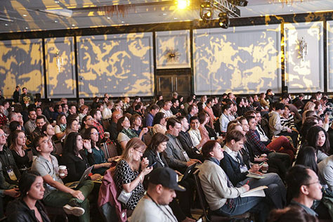
[(185, 191), (185, 188), (178, 185), (178, 176), (173, 169), (163, 167), (152, 171), (147, 194), (138, 202), (129, 221), (176, 222), (177, 218), (169, 207), (176, 197), (175, 190)]

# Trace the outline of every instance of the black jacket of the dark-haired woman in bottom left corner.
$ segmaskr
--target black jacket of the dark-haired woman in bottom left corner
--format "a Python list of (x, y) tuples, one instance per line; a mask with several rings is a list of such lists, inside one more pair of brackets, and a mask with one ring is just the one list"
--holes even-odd
[[(36, 202), (36, 207), (39, 214), (41, 214), (43, 222), (50, 222), (43, 204), (38, 200)], [(6, 215), (8, 217), (8, 222), (38, 222), (36, 216), (34, 216), (34, 210), (27, 207), (27, 204), (21, 199), (13, 200), (8, 203)]]

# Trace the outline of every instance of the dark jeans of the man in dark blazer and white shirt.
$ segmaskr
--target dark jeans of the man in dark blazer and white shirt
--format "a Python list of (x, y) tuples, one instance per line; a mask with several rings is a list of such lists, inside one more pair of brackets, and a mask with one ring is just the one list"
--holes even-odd
[(285, 206), (287, 190), (285, 188), (285, 184), (283, 184), (278, 174), (265, 174), (265, 178), (261, 179), (247, 178), (244, 181), (238, 183), (237, 187), (246, 184), (247, 181), (249, 181), (250, 189), (257, 188), (261, 185), (268, 186), (268, 188), (264, 191), (268, 201), (273, 204), (274, 208), (282, 209)]

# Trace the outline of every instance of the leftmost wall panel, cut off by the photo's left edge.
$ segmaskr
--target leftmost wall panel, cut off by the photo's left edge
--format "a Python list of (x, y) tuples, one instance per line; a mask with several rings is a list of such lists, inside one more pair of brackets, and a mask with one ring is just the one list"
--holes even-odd
[(41, 39), (0, 41), (0, 89), (5, 98), (13, 98), (16, 85), (44, 98)]

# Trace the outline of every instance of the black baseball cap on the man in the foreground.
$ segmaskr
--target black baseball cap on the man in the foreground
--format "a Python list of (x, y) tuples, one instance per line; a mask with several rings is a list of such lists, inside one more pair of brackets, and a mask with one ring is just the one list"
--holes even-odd
[(166, 188), (178, 191), (185, 191), (186, 189), (178, 185), (178, 175), (176, 171), (169, 167), (157, 168), (150, 173), (149, 183), (161, 184)]

